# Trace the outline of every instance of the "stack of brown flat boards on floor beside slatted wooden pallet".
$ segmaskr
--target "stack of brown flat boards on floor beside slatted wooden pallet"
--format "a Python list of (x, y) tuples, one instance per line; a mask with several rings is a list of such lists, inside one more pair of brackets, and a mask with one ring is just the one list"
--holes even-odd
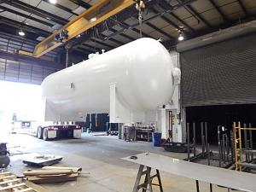
[(44, 166), (42, 169), (28, 170), (23, 174), (33, 183), (55, 183), (75, 180), (81, 172), (80, 167)]

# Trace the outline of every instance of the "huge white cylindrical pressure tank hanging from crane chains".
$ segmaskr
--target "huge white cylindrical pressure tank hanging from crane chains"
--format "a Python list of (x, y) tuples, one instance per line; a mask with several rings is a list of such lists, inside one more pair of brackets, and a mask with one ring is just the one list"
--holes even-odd
[(45, 120), (81, 121), (87, 113), (109, 113), (110, 103), (130, 112), (155, 110), (172, 99), (172, 73), (160, 42), (137, 39), (44, 79)]

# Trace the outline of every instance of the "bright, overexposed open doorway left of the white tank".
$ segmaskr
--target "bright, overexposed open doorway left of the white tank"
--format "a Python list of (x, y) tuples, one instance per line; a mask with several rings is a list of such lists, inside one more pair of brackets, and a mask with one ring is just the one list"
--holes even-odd
[(1, 137), (12, 132), (16, 125), (42, 119), (43, 102), (41, 87), (36, 84), (21, 84), (0, 81), (0, 131)]

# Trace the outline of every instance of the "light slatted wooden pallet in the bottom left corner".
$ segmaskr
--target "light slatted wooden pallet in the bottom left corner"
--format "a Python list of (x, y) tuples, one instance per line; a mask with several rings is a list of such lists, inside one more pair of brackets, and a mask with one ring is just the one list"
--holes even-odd
[(0, 172), (0, 191), (3, 192), (47, 192), (37, 184), (18, 178), (11, 172)]

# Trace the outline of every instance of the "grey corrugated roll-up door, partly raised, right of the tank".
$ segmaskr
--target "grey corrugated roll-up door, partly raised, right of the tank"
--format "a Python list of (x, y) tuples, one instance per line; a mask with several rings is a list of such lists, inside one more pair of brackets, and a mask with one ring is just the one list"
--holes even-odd
[(256, 35), (180, 54), (183, 107), (256, 103)]

